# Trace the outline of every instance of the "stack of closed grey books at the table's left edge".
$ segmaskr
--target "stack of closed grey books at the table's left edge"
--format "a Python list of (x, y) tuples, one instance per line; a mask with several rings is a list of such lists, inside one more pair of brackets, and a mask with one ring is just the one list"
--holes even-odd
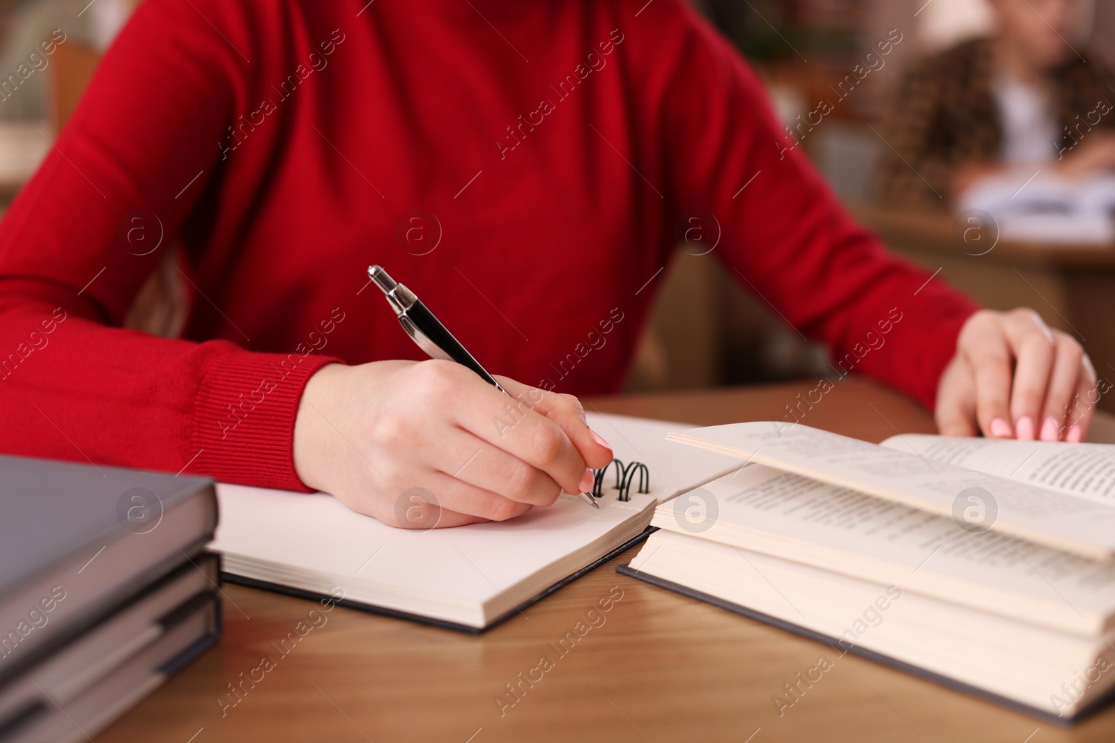
[(0, 457), (0, 741), (85, 741), (221, 634), (213, 483)]

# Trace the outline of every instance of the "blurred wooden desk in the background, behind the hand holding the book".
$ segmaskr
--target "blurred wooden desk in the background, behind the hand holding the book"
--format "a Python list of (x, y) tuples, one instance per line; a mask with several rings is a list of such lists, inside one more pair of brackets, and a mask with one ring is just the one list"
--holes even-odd
[[(975, 296), (992, 310), (1034, 307), (1051, 326), (1075, 335), (1101, 378), (1115, 383), (1115, 245), (963, 239), (951, 215), (852, 205), (896, 253)], [(975, 233), (972, 233), (975, 235)], [(987, 251), (987, 252), (985, 252)], [(1101, 399), (1115, 412), (1115, 395)]]

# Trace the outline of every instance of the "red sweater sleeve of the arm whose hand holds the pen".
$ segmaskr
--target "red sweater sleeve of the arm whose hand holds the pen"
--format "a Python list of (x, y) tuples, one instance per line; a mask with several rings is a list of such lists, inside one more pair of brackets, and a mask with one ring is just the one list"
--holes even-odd
[[(253, 55), (241, 6), (143, 3), (0, 224), (3, 451), (303, 489), (294, 416), (334, 359), (120, 327), (220, 185), (217, 143)], [(134, 228), (161, 232), (162, 248), (144, 254)]]

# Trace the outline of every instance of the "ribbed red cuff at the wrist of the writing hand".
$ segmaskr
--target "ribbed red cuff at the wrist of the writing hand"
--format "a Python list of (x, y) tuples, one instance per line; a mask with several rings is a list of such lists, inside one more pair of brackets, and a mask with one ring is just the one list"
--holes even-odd
[(191, 472), (222, 482), (309, 492), (294, 471), (294, 419), (306, 383), (340, 359), (298, 353), (233, 353), (205, 372), (191, 439)]

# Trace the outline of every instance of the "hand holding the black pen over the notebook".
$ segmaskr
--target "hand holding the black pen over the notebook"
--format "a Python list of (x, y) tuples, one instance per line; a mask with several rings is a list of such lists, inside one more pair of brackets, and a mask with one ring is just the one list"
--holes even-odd
[(329, 364), (294, 423), (294, 469), (390, 526), (502, 521), (591, 489), (612, 451), (568, 394), (498, 378), (511, 398), (449, 361)]

